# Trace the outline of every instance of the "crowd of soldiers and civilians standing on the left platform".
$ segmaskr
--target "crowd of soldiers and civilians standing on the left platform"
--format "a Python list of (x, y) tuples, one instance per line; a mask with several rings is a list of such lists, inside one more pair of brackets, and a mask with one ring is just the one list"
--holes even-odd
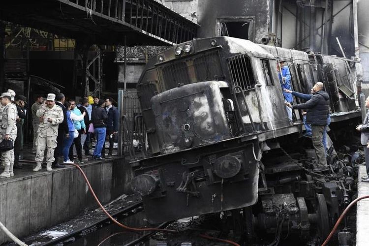
[[(0, 178), (9, 178), (14, 175), (13, 168), (23, 168), (19, 156), (23, 148), (27, 98), (8, 90), (1, 94), (0, 101), (0, 143), (3, 142), (0, 149), (1, 164), (4, 165)], [(112, 158), (119, 127), (118, 108), (112, 104), (110, 97), (105, 100), (97, 96), (83, 97), (80, 104), (76, 104), (75, 99), (65, 100), (62, 93), (49, 93), (46, 100), (41, 95), (36, 96), (31, 106), (32, 154), (35, 154), (36, 162), (33, 171), (42, 169), (45, 153), (47, 171), (52, 171), (53, 167), (65, 167), (64, 164), (84, 163), (83, 150), (85, 156), (92, 155), (92, 159), (103, 160), (106, 136), (109, 138), (107, 158)], [(93, 154), (90, 152), (92, 138), (96, 139)]]

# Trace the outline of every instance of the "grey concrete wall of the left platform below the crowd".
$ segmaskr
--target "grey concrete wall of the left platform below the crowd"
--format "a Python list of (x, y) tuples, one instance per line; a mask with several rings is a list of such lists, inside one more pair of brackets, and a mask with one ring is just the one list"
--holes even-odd
[[(17, 237), (68, 220), (97, 204), (81, 173), (72, 166), (32, 172), (33, 163), (14, 169), (14, 177), (0, 180), (0, 221)], [(129, 193), (132, 178), (124, 158), (80, 165), (102, 203)], [(8, 241), (0, 231), (0, 244)]]

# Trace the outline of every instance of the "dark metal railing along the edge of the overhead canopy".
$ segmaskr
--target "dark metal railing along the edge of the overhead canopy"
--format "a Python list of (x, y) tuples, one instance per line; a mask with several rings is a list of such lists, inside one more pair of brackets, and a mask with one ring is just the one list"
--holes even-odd
[(89, 15), (129, 25), (176, 44), (193, 39), (197, 25), (155, 0), (59, 0), (83, 8)]

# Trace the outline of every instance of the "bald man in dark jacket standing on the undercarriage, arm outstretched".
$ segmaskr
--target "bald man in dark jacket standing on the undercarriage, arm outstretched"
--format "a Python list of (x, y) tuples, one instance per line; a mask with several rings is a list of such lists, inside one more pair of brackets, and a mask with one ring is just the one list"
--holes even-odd
[(323, 146), (323, 131), (325, 125), (327, 125), (329, 95), (323, 91), (322, 82), (317, 82), (311, 92), (312, 96), (307, 102), (292, 106), (289, 103), (286, 105), (292, 109), (307, 109), (306, 121), (308, 124), (311, 124), (312, 145), (318, 158), (318, 163), (314, 171), (324, 172), (328, 170), (327, 158)]

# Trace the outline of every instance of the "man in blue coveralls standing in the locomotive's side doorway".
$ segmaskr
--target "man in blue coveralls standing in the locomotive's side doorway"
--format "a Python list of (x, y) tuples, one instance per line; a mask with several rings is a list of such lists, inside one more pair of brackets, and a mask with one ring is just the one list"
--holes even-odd
[[(279, 65), (277, 65), (277, 70), (278, 70), (280, 86), (282, 87), (284, 102), (291, 103), (293, 101), (292, 94), (284, 91), (284, 89), (292, 91), (290, 69), (285, 64), (284, 60), (280, 60)], [(288, 114), (288, 119), (292, 121), (292, 109), (286, 106), (286, 110)]]

